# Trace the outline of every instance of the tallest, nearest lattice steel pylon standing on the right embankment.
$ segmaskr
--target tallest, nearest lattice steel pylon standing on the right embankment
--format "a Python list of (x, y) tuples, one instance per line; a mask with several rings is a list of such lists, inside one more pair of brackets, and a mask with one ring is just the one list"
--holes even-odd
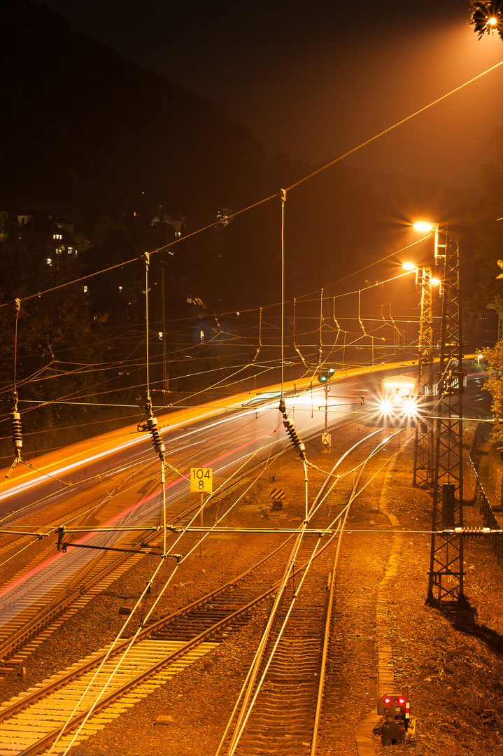
[[(442, 335), (435, 415), (434, 497), (427, 603), (449, 609), (464, 603), (463, 537), (440, 534), (463, 525), (463, 390), (458, 240), (436, 245), (444, 259)], [(438, 249), (445, 250), (437, 255)]]

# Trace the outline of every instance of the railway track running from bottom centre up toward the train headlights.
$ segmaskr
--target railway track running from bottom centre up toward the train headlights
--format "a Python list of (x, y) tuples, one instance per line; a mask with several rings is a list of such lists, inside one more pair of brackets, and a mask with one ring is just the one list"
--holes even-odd
[[(364, 439), (364, 442), (367, 440)], [(384, 443), (379, 442), (360, 466), (359, 472), (356, 474), (354, 471), (347, 506), (341, 509), (338, 526), (326, 545), (335, 542), (338, 536), (340, 546), (347, 512), (366, 463), (387, 443), (388, 439)], [(332, 469), (332, 476), (343, 459), (338, 460)], [(311, 526), (321, 529), (335, 528), (335, 521), (329, 522), (328, 514), (331, 507), (329, 496), (337, 483), (336, 480), (329, 484), (329, 478), (326, 479), (307, 513), (304, 525), (309, 522)], [(306, 550), (308, 545), (302, 538), (298, 553)], [(273, 613), (273, 622), (264, 631), (218, 754), (268, 756), (288, 749), (292, 756), (315, 756), (318, 752), (328, 655), (331, 638), (337, 629), (332, 627), (332, 612), (338, 547), (334, 552), (328, 584), (318, 569), (310, 569), (312, 565), (309, 562), (309, 569), (301, 576), (301, 584), (292, 597), (287, 596), (286, 592), (282, 593)], [(290, 569), (297, 563), (298, 553), (292, 551)], [(307, 556), (307, 552), (304, 556)], [(317, 548), (311, 550), (310, 559), (314, 560), (316, 556)]]

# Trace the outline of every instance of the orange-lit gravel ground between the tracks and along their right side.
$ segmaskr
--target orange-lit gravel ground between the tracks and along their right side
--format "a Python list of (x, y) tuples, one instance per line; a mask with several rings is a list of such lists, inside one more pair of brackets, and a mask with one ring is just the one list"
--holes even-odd
[[(332, 439), (331, 455), (320, 454), (319, 445), (312, 444), (308, 445), (308, 457), (319, 468), (330, 469), (339, 449), (344, 451), (371, 430), (352, 426), (344, 430), (344, 438), (341, 433)], [(391, 451), (385, 454), (390, 456)], [(320, 751), (323, 756), (357, 754), (355, 727), (375, 710), (378, 698), (380, 643), (390, 643), (395, 688), (409, 689), (412, 714), (417, 717), (414, 738), (406, 745), (395, 746), (393, 753), (461, 756), (493, 754), (503, 748), (501, 567), (495, 563), (487, 541), (466, 544), (465, 592), (478, 612), (477, 626), (471, 631), (455, 629), (447, 618), (425, 606), (430, 535), (424, 531), (430, 530), (431, 497), (427, 491), (412, 488), (412, 458), (413, 445), (409, 443), (389, 468), (384, 494), (385, 469), (356, 499), (348, 519), (350, 532), (341, 551), (336, 606), (340, 626), (335, 640), (340, 661), (332, 662), (330, 671), (329, 714)], [(375, 460), (372, 470), (378, 469), (382, 459), (380, 463)], [(322, 477), (321, 472), (310, 471), (310, 491)], [(468, 474), (465, 481), (468, 500), (472, 485)], [(233, 523), (264, 525), (261, 507), (270, 508), (268, 496), (275, 486), (284, 488), (287, 494), (281, 522), (288, 526), (298, 523), (304, 512), (304, 476), (293, 453), (264, 473), (257, 491), (248, 496)], [(383, 502), (403, 531), (397, 577), (387, 588), (384, 630), (376, 623), (375, 597), (393, 548), (393, 534), (390, 519), (382, 510)], [(208, 522), (209, 518), (211, 511)], [(465, 519), (468, 525), (480, 524), (473, 507), (465, 507)], [(261, 538), (259, 534), (215, 536), (205, 547), (202, 560), (195, 557), (182, 565), (176, 587), (168, 590), (163, 611), (190, 603), (242, 572), (252, 561)], [(143, 559), (134, 571), (119, 578), (42, 643), (26, 663), (26, 683), (15, 674), (9, 675), (4, 680), (2, 699), (113, 640), (124, 621), (119, 607), (131, 606), (150, 577), (154, 562), (153, 557)], [(258, 609), (245, 629), (221, 643), (218, 661), (211, 670), (205, 670), (204, 658), (199, 659), (104, 730), (74, 746), (69, 756), (214, 754), (263, 624), (264, 612)], [(156, 724), (161, 714), (171, 716), (171, 723)], [(382, 750), (378, 737), (375, 745), (377, 751)]]

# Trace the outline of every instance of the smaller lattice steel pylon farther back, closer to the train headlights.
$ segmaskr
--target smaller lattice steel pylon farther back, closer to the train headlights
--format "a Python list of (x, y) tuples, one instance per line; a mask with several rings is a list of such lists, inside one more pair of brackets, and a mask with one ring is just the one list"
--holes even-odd
[[(418, 268), (416, 284), (421, 287), (421, 319), (418, 341), (419, 410), (431, 398), (433, 385), (433, 293), (431, 268)], [(415, 427), (413, 485), (430, 488), (434, 482), (434, 432), (430, 420), (423, 419)]]

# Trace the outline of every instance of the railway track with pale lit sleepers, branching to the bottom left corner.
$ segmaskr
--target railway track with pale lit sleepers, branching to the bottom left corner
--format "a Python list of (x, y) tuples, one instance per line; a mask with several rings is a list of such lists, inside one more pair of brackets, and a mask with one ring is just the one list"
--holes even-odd
[[(273, 534), (270, 538), (278, 541), (281, 537)], [(0, 742), (3, 745), (0, 756), (35, 756), (58, 736), (63, 727), (58, 722), (63, 719), (67, 721), (65, 730), (79, 727), (86, 720), (82, 738), (87, 737), (100, 729), (103, 717), (105, 720), (113, 718), (114, 712), (115, 716), (119, 715), (117, 712), (120, 713), (125, 706), (122, 696), (131, 689), (136, 691), (133, 698), (143, 695), (141, 691), (150, 692), (164, 684), (172, 674), (177, 674), (184, 666), (213, 650), (248, 621), (258, 604), (270, 599), (276, 588), (271, 575), (281, 573), (285, 548), (285, 544), (276, 546), (252, 569), (229, 584), (168, 618), (143, 628), (119, 667), (118, 660), (131, 644), (129, 639), (120, 640), (113, 649), (100, 649), (59, 675), (6, 702), (0, 708)], [(269, 587), (264, 590), (266, 581)], [(97, 666), (99, 671), (96, 674)], [(97, 701), (99, 692), (108, 680), (110, 683)], [(137, 686), (143, 686), (140, 692)], [(82, 692), (85, 692), (84, 696)], [(116, 699), (121, 702), (108, 711), (107, 707), (113, 705)], [(74, 708), (76, 711), (69, 717)]]

